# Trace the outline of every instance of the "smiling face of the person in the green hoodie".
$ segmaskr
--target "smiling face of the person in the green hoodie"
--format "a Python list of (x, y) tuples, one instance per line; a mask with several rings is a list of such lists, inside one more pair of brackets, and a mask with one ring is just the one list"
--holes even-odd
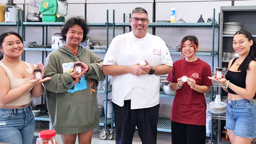
[(73, 25), (69, 28), (67, 33), (65, 34), (66, 46), (69, 49), (77, 49), (79, 43), (83, 40), (84, 31), (81, 26)]

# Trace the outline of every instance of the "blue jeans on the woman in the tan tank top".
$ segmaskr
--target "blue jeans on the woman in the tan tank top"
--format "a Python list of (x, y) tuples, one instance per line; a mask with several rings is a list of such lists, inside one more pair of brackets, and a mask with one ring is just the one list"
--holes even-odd
[(35, 129), (30, 105), (23, 108), (0, 108), (0, 142), (32, 144)]

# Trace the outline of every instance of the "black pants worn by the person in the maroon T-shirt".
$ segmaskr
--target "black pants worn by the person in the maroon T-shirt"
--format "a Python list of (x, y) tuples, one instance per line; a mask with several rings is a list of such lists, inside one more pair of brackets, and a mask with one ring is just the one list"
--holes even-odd
[(172, 121), (172, 144), (205, 144), (205, 125), (181, 124)]

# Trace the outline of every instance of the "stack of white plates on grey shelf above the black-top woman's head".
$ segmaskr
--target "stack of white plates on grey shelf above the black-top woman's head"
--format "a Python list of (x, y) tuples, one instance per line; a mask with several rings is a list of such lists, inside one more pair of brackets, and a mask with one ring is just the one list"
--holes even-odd
[(235, 34), (242, 29), (242, 23), (239, 22), (226, 22), (223, 23), (223, 34)]

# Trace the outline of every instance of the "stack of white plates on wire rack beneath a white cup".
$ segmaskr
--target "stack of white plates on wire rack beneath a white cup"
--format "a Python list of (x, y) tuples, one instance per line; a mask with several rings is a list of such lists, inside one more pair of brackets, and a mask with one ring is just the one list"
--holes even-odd
[(215, 101), (208, 102), (207, 110), (211, 111), (212, 113), (220, 114), (226, 112), (226, 102), (220, 102), (220, 104), (215, 104)]

